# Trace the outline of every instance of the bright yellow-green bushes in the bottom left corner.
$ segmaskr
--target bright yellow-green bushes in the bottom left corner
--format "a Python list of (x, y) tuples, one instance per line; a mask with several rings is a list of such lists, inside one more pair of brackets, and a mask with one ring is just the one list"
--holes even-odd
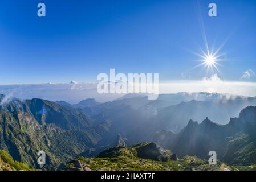
[(3, 150), (0, 150), (0, 171), (28, 171), (30, 168), (13, 158)]

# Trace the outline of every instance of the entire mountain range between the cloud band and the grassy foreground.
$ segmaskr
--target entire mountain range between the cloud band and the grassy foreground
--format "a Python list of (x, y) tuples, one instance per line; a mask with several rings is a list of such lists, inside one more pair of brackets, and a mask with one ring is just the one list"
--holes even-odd
[[(78, 104), (0, 94), (0, 150), (39, 169), (60, 169), (78, 156), (141, 142), (155, 142), (178, 157), (208, 159), (214, 150), (226, 163), (255, 164), (255, 104), (255, 97), (217, 93), (161, 94), (154, 101), (127, 95)], [(46, 152), (46, 165), (37, 164), (38, 151)]]

